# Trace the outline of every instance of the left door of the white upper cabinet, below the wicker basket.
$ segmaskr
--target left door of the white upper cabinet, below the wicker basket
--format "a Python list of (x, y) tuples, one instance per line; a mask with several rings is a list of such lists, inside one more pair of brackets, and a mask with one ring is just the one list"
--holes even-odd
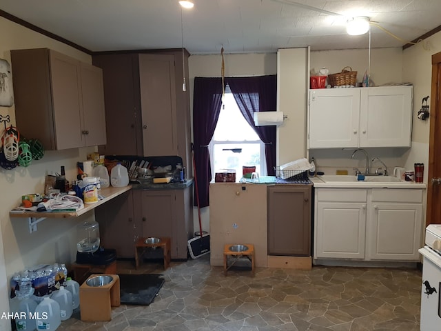
[(309, 148), (358, 147), (360, 89), (309, 92)]

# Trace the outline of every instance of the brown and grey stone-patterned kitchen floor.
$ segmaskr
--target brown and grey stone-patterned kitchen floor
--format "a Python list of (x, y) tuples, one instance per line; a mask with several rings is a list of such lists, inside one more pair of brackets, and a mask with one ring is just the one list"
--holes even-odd
[(119, 273), (161, 273), (165, 283), (148, 306), (113, 308), (112, 321), (82, 322), (79, 312), (60, 331), (411, 331), (420, 330), (421, 272), (395, 268), (314, 266), (310, 271), (186, 262), (118, 262)]

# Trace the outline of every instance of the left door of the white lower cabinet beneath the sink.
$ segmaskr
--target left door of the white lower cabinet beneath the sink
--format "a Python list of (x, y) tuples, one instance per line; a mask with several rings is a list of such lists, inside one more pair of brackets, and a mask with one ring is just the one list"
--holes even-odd
[(314, 258), (365, 259), (366, 203), (318, 202)]

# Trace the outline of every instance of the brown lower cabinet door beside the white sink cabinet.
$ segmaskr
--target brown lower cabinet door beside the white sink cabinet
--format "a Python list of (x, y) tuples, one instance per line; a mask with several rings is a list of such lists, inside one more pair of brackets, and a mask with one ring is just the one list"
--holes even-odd
[(267, 188), (268, 254), (311, 256), (311, 185)]

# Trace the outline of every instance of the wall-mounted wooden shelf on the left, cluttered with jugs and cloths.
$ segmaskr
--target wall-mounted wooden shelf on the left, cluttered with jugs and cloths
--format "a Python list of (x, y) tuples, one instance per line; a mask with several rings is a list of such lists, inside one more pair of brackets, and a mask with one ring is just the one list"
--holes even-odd
[(79, 217), (129, 190), (132, 190), (132, 185), (124, 186), (123, 188), (114, 188), (112, 186), (109, 188), (102, 188), (100, 194), (104, 197), (103, 200), (96, 203), (85, 203), (84, 208), (76, 212), (10, 212), (9, 216), (10, 218), (28, 219), (29, 232), (32, 233), (37, 231), (37, 223), (43, 221), (43, 219), (67, 219), (71, 217)]

